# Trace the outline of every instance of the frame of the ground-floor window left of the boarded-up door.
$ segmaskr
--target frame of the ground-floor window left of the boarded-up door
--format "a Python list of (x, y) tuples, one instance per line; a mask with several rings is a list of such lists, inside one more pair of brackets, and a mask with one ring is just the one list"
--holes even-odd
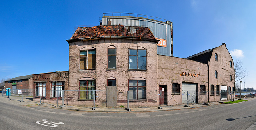
[[(81, 81), (86, 81), (86, 86), (82, 86), (81, 85)], [(88, 85), (88, 81), (94, 81), (94, 85)], [(96, 90), (96, 84), (95, 84), (96, 82), (95, 82), (95, 80), (79, 80), (79, 94), (78, 94), (78, 99), (79, 100), (93, 100), (93, 98), (89, 98), (89, 95), (90, 95), (90, 93), (89, 93), (89, 91), (95, 91)], [(94, 88), (94, 90), (88, 90), (88, 88), (89, 87), (91, 87), (91, 88)], [(80, 90), (81, 88), (86, 88), (86, 90)], [(81, 91), (85, 91), (84, 93), (85, 93), (85, 98), (81, 98), (80, 96), (81, 96)], [(84, 94), (83, 93), (83, 94)], [(92, 93), (93, 94), (93, 93)], [(94, 99), (96, 98), (96, 96), (95, 96), (95, 93), (94, 93)]]

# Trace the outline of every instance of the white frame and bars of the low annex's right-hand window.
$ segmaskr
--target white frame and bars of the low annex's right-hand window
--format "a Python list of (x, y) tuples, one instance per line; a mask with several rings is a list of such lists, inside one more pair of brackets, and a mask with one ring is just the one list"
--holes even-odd
[[(54, 83), (54, 85), (52, 85), (52, 83)], [(65, 89), (65, 82), (64, 81), (59, 81), (59, 85), (57, 85), (58, 81), (51, 81), (50, 84), (51, 84), (51, 98), (57, 98), (57, 94), (56, 94), (56, 91), (57, 91), (57, 87), (59, 86), (59, 97), (62, 98), (62, 96), (64, 96), (64, 93), (62, 93), (62, 90)], [(62, 84), (62, 85), (60, 85)], [(52, 87), (54, 87), (54, 90), (52, 90)]]

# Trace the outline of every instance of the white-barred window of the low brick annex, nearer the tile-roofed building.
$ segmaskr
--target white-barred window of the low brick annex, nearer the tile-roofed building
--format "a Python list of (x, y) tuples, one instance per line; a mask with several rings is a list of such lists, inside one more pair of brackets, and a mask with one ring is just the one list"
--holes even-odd
[(57, 97), (58, 96), (58, 87), (59, 87), (59, 97), (64, 97), (64, 93), (62, 90), (64, 90), (64, 82), (59, 82), (59, 85), (57, 85), (57, 82), (51, 82), (51, 97)]

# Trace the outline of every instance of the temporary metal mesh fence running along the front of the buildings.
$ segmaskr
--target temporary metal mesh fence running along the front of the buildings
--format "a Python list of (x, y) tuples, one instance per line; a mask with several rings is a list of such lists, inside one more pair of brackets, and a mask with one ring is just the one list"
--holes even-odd
[[(128, 91), (105, 90), (62, 90), (61, 88), (46, 90), (38, 88), (35, 90), (9, 89), (9, 96), (33, 96), (33, 101), (40, 103), (57, 103), (59, 106), (75, 105), (83, 107), (121, 107), (130, 110), (132, 107), (169, 107), (174, 105), (185, 105), (195, 103), (208, 103), (214, 101), (232, 100), (233, 92), (221, 90), (215, 91), (144, 91), (136, 88)], [(254, 93), (254, 94), (252, 94)], [(239, 93), (240, 94), (240, 93)], [(244, 93), (242, 93), (244, 94)], [(242, 95), (241, 94), (241, 95)], [(246, 92), (244, 96), (256, 95), (255, 92)], [(6, 90), (2, 95), (8, 95)]]

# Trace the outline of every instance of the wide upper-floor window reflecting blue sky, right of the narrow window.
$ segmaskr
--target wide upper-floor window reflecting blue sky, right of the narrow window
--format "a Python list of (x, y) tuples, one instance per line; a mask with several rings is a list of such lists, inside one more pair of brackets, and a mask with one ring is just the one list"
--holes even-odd
[(132, 70), (146, 70), (146, 50), (129, 49), (129, 69)]

